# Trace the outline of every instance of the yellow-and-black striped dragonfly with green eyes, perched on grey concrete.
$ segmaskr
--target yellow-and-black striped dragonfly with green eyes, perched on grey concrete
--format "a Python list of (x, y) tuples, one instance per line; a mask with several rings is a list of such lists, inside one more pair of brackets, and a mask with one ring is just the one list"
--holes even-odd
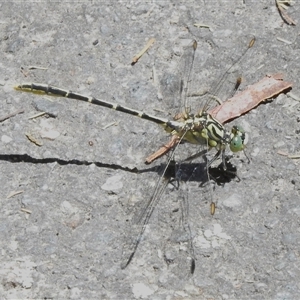
[[(241, 57), (235, 61), (233, 65), (239, 63), (245, 53), (249, 48), (252, 47), (253, 41), (250, 42), (246, 51), (241, 55)], [(195, 53), (197, 49), (197, 42), (195, 40), (184, 50), (184, 54), (180, 61), (182, 62), (182, 68), (180, 70), (180, 101), (183, 103), (183, 112), (176, 119), (169, 119), (160, 116), (156, 116), (153, 114), (148, 114), (143, 111), (139, 111), (136, 109), (132, 109), (120, 104), (111, 103), (109, 101), (95, 98), (92, 96), (82, 95), (76, 92), (73, 92), (68, 89), (62, 89), (59, 87), (50, 86), (48, 84), (43, 83), (22, 83), (15, 86), (17, 91), (29, 92), (38, 95), (50, 95), (55, 97), (65, 97), (74, 100), (84, 101), (90, 104), (102, 106), (105, 108), (109, 108), (115, 111), (119, 111), (125, 114), (129, 114), (135, 117), (139, 117), (141, 119), (153, 122), (161, 126), (167, 133), (169, 133), (172, 137), (175, 137), (177, 142), (174, 147), (172, 147), (171, 155), (169, 155), (167, 162), (159, 176), (158, 182), (155, 186), (152, 197), (148, 199), (144, 209), (138, 214), (138, 216), (134, 220), (134, 234), (132, 238), (126, 241), (124, 249), (123, 249), (123, 259), (121, 263), (121, 268), (126, 268), (129, 263), (132, 261), (133, 256), (136, 253), (138, 245), (142, 240), (142, 236), (144, 234), (145, 229), (147, 228), (147, 224), (151, 218), (151, 215), (159, 202), (161, 195), (163, 194), (166, 186), (171, 182), (170, 178), (181, 178), (183, 174), (183, 162), (179, 164), (174, 164), (174, 153), (178, 148), (179, 144), (183, 142), (199, 145), (202, 148), (202, 151), (199, 151), (192, 158), (188, 158), (187, 160), (192, 160), (200, 155), (204, 155), (210, 149), (215, 149), (216, 153), (212, 159), (210, 159), (206, 163), (206, 172), (208, 172), (208, 168), (212, 165), (214, 161), (217, 159), (221, 159), (221, 164), (223, 170), (227, 169), (227, 157), (226, 157), (226, 149), (230, 148), (232, 152), (239, 152), (244, 150), (245, 148), (245, 138), (246, 134), (244, 130), (239, 126), (233, 126), (231, 130), (228, 130), (221, 124), (216, 118), (208, 113), (208, 109), (211, 108), (213, 102), (216, 102), (216, 95), (218, 91), (221, 89), (222, 80), (226, 77), (231, 67), (226, 71), (223, 75), (221, 81), (214, 88), (214, 92), (210, 93), (208, 98), (205, 100), (204, 105), (202, 105), (201, 109), (199, 109), (196, 113), (191, 113), (191, 108), (189, 105), (189, 85), (191, 82), (191, 73), (193, 70), (193, 64), (195, 59)], [(169, 150), (169, 149), (168, 149)], [(171, 173), (173, 175), (167, 176), (171, 166), (175, 166)], [(197, 167), (194, 168), (194, 171), (191, 175), (189, 175), (189, 180), (191, 177), (195, 176), (197, 171)], [(174, 175), (175, 174), (175, 175)], [(168, 180), (166, 178), (169, 178)], [(173, 180), (172, 179), (172, 180)], [(191, 237), (191, 230), (188, 223), (188, 203), (186, 197), (182, 195), (182, 224), (185, 227), (185, 231)], [(211, 211), (214, 212), (215, 204), (211, 201)], [(192, 239), (190, 238), (188, 241), (188, 251), (190, 258), (190, 273), (193, 274), (195, 270), (195, 257), (192, 246)]]

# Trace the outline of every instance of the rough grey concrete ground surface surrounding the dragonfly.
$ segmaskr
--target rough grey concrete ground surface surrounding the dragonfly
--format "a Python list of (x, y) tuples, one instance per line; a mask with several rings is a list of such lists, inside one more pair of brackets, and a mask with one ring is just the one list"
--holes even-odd
[[(295, 2), (287, 12), (298, 21)], [(153, 193), (155, 166), (166, 161), (152, 167), (144, 159), (168, 135), (105, 108), (12, 88), (48, 83), (171, 118), (164, 74), (176, 71), (184, 45), (198, 42), (193, 82), (201, 90), (255, 35), (241, 89), (282, 72), (299, 97), (299, 26), (285, 24), (274, 1), (10, 1), (0, 3), (0, 15), (0, 117), (24, 109), (1, 122), (1, 299), (299, 297), (299, 160), (278, 154), (299, 153), (299, 102), (282, 94), (235, 120), (250, 136), (251, 163), (243, 153), (232, 159), (241, 181), (216, 186), (214, 216), (199, 182), (168, 186), (122, 270), (130, 220)], [(151, 37), (154, 45), (131, 66)], [(39, 110), (51, 116), (30, 119)], [(196, 151), (182, 145), (176, 155)], [(186, 253), (170, 238), (182, 195), (193, 276), (176, 254), (164, 259)]]

